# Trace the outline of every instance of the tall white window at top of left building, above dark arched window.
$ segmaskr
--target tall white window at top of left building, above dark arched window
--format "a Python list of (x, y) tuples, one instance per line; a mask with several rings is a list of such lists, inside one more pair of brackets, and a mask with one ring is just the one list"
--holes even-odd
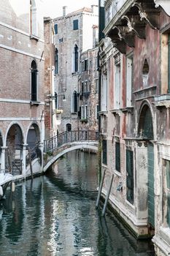
[(31, 34), (37, 36), (38, 34), (38, 24), (37, 24), (37, 12), (36, 12), (36, 2), (35, 0), (30, 0), (30, 31)]

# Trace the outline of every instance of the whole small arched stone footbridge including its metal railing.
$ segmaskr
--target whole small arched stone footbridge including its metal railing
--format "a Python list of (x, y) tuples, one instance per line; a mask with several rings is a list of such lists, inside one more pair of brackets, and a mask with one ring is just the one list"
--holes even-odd
[(94, 130), (69, 131), (45, 140), (44, 172), (63, 154), (76, 149), (98, 151), (98, 132)]

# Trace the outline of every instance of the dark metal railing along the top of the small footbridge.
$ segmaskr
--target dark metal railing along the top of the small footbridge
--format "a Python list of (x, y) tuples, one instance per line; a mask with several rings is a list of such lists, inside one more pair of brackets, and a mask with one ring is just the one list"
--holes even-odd
[(95, 130), (75, 130), (62, 132), (44, 142), (44, 151), (53, 151), (55, 148), (62, 146), (65, 143), (78, 141), (98, 140), (98, 131)]

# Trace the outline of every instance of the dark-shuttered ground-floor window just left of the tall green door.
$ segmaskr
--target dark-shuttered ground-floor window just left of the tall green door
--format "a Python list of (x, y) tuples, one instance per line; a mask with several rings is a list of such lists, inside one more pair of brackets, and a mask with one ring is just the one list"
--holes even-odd
[(126, 150), (126, 198), (134, 204), (134, 152)]

